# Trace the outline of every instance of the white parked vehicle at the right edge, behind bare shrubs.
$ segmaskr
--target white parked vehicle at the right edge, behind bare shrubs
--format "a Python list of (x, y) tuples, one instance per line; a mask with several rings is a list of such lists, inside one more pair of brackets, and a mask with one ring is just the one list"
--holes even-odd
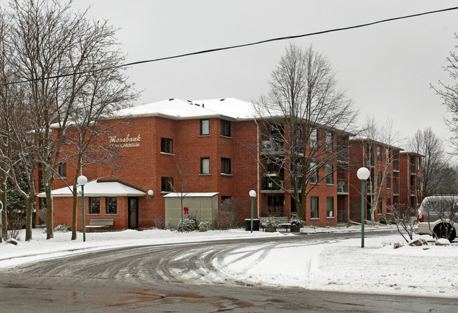
[(426, 197), (418, 213), (417, 234), (447, 238), (450, 241), (457, 237), (455, 226), (458, 226), (458, 195)]

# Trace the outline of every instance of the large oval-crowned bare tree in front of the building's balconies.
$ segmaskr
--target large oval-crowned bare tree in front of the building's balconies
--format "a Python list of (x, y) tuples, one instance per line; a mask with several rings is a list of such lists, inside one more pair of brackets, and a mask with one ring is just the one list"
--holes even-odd
[[(287, 47), (273, 70), (270, 91), (255, 103), (261, 120), (266, 175), (275, 167), (283, 179), (268, 179), (288, 193), (299, 217), (306, 197), (319, 181), (338, 170), (337, 159), (357, 112), (345, 92), (338, 89), (330, 62), (312, 49)], [(328, 167), (326, 175), (318, 170)], [(285, 183), (283, 183), (285, 181)]]

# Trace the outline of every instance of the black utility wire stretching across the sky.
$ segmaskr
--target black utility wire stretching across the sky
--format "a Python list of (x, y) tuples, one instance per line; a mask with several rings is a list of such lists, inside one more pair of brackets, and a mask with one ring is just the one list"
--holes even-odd
[(314, 36), (314, 35), (317, 35), (317, 34), (327, 34), (328, 32), (340, 32), (342, 30), (353, 30), (355, 28), (361, 28), (361, 27), (367, 27), (367, 26), (376, 25), (376, 24), (380, 24), (380, 23), (392, 22), (393, 20), (403, 20), (405, 18), (415, 18), (415, 17), (421, 16), (421, 15), (441, 13), (441, 12), (453, 11), (453, 10), (457, 10), (457, 9), (458, 9), (458, 6), (455, 6), (453, 8), (442, 8), (442, 9), (436, 10), (436, 11), (428, 11), (428, 12), (423, 12), (423, 13), (404, 15), (404, 16), (400, 16), (400, 17), (397, 17), (397, 18), (387, 18), (385, 20), (377, 20), (376, 22), (371, 22), (371, 23), (353, 25), (353, 26), (348, 26), (348, 27), (340, 27), (340, 28), (335, 28), (333, 30), (322, 30), (320, 32), (310, 32), (308, 34), (297, 34), (297, 35), (293, 35), (293, 36), (285, 36), (285, 37), (277, 37), (277, 38), (265, 39), (265, 40), (261, 40), (261, 41), (251, 42), (251, 43), (248, 43), (248, 44), (237, 44), (236, 46), (225, 46), (223, 48), (215, 48), (215, 49), (195, 51), (195, 52), (190, 52), (190, 53), (183, 53), (183, 54), (178, 54), (176, 56), (166, 56), (164, 58), (154, 58), (154, 59), (151, 59), (151, 60), (142, 60), (142, 61), (137, 61), (137, 62), (132, 62), (132, 63), (125, 63), (125, 64), (121, 64), (121, 65), (111, 66), (109, 68), (99, 68), (99, 69), (95, 69), (95, 70), (74, 72), (74, 73), (70, 73), (70, 74), (55, 75), (55, 76), (49, 76), (49, 77), (40, 77), (40, 78), (34, 78), (34, 79), (26, 79), (26, 80), (22, 80), (22, 81), (19, 81), (19, 82), (8, 82), (8, 83), (5, 83), (5, 84), (0, 84), (0, 86), (4, 86), (4, 85), (8, 85), (8, 84), (19, 84), (19, 83), (24, 83), (24, 82), (35, 82), (37, 80), (42, 80), (42, 79), (54, 79), (54, 78), (68, 77), (68, 76), (73, 76), (73, 75), (89, 74), (89, 73), (92, 73), (92, 72), (101, 72), (101, 71), (104, 71), (104, 70), (113, 70), (115, 68), (124, 68), (126, 66), (138, 65), (138, 64), (143, 64), (143, 63), (158, 62), (158, 61), (161, 61), (161, 60), (171, 60), (173, 58), (183, 58), (185, 56), (196, 56), (198, 54), (211, 53), (211, 52), (223, 51), (223, 50), (229, 50), (229, 49), (237, 49), (237, 48), (242, 48), (242, 47), (245, 47), (245, 46), (255, 46), (257, 44), (266, 44), (266, 43), (272, 42), (272, 41), (280, 41), (280, 40), (295, 39), (295, 38), (301, 38), (301, 37), (309, 37), (309, 36)]

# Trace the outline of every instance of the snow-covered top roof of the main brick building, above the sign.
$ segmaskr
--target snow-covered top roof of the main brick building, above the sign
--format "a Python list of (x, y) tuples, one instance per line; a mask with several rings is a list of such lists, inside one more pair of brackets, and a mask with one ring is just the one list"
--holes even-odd
[(147, 103), (141, 106), (119, 110), (116, 116), (165, 115), (172, 118), (217, 117), (254, 118), (256, 116), (252, 103), (236, 98), (218, 98), (209, 100), (168, 100)]

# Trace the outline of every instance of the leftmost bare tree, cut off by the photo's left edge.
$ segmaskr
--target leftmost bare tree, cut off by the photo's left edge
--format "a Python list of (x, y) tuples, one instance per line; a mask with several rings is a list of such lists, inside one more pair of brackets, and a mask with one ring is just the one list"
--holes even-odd
[[(35, 134), (30, 129), (32, 114), (25, 106), (23, 85), (11, 84), (18, 79), (18, 70), (13, 65), (14, 51), (10, 45), (12, 27), (6, 23), (8, 16), (0, 12), (0, 196), (5, 208), (3, 236), (8, 231), (6, 210), (6, 180), (9, 178), (20, 196), (26, 200), (25, 240), (32, 239), (32, 211), (35, 201), (35, 165), (37, 150)], [(26, 177), (20, 184), (19, 171)]]

